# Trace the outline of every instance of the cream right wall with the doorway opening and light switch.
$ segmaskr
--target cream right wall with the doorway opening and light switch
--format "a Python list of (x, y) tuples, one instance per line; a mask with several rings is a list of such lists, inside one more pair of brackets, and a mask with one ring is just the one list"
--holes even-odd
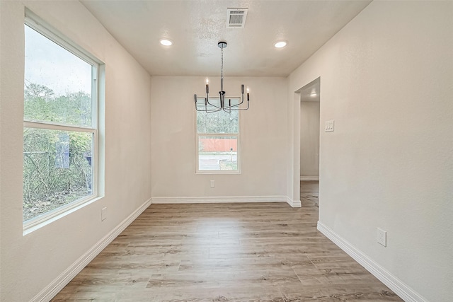
[(436, 302), (453, 295), (452, 50), (452, 1), (373, 1), (289, 77), (289, 132), (294, 91), (318, 76), (321, 124), (335, 120), (321, 132), (319, 225)]

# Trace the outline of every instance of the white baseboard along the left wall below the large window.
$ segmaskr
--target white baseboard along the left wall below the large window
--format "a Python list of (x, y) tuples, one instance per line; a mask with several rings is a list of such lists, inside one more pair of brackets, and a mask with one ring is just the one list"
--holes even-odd
[(113, 241), (122, 231), (127, 228), (127, 226), (132, 223), (137, 217), (142, 214), (142, 212), (147, 209), (151, 205), (151, 199), (144, 202), (141, 207), (135, 210), (132, 214), (130, 214), (125, 220), (123, 220), (120, 224), (118, 224), (115, 228), (113, 228), (110, 233), (105, 235), (101, 240), (98, 241), (93, 247), (88, 250), (84, 255), (82, 255), (76, 262), (74, 262), (70, 267), (68, 267), (62, 274), (60, 274), (57, 279), (52, 281), (49, 285), (42, 289), (38, 295), (31, 299), (31, 301), (42, 301), (47, 302), (50, 301), (53, 297), (55, 297), (59, 291), (61, 291), (64, 286), (66, 286), (71, 279), (76, 277), (79, 272), (81, 272), (88, 263), (94, 259), (109, 243)]

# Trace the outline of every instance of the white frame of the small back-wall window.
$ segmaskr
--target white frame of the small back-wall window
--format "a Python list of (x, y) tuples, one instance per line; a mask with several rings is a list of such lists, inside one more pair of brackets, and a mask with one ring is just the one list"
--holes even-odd
[[(200, 94), (202, 95), (202, 94)], [(219, 98), (219, 97), (211, 97)], [(210, 99), (211, 99), (210, 98)], [(227, 98), (239, 98), (232, 96), (225, 96)], [(197, 97), (198, 100), (203, 100), (204, 97)], [(198, 111), (195, 111), (195, 174), (241, 174), (241, 111), (234, 110), (238, 113), (238, 133), (198, 133), (198, 124), (197, 124), (197, 114)], [(207, 113), (210, 114), (210, 113)], [(236, 151), (236, 161), (237, 161), (237, 170), (200, 170), (200, 158), (199, 158), (199, 146), (200, 146), (200, 137), (236, 137), (237, 141), (237, 151)]]

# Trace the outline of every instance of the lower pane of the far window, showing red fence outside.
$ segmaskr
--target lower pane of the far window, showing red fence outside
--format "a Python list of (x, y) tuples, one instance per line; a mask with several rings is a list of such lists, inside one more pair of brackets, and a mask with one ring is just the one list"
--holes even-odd
[(199, 137), (198, 170), (238, 170), (237, 137)]

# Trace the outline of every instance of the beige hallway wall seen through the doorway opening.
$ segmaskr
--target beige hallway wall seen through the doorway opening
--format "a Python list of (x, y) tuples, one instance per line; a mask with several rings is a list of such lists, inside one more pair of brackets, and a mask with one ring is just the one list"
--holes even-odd
[(300, 176), (319, 177), (319, 102), (300, 103)]

